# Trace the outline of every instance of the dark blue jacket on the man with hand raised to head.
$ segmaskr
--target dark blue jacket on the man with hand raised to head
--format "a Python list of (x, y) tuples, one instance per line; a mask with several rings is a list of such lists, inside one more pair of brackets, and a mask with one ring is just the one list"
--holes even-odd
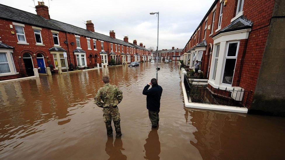
[(151, 89), (148, 89), (149, 87), (150, 85), (146, 85), (142, 91), (142, 94), (147, 96), (147, 109), (157, 111), (160, 108), (162, 87), (158, 84), (152, 85)]

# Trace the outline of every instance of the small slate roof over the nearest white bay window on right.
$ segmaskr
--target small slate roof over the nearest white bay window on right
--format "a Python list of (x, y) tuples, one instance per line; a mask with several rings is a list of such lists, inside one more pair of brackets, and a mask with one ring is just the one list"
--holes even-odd
[(253, 22), (250, 20), (247, 20), (244, 16), (241, 16), (237, 18), (236, 20), (232, 21), (227, 27), (224, 29), (220, 30), (216, 35), (212, 36), (215, 37), (218, 34), (225, 33), (225, 32), (230, 32), (230, 31), (237, 31), (241, 29), (249, 29), (252, 27)]

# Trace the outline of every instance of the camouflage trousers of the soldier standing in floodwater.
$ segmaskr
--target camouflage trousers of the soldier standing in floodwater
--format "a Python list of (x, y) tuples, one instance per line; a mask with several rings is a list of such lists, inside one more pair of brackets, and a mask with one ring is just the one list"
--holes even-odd
[(120, 113), (118, 107), (116, 108), (103, 108), (103, 119), (106, 124), (107, 134), (108, 136), (113, 135), (113, 129), (112, 129), (112, 119), (114, 122), (115, 130), (116, 130), (116, 136), (121, 136), (121, 126), (120, 126)]

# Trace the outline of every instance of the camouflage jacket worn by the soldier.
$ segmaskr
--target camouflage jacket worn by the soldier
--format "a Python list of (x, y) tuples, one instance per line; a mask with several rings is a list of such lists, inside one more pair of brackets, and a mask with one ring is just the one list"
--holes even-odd
[(123, 92), (115, 85), (105, 84), (98, 89), (95, 104), (101, 108), (114, 108), (122, 101)]

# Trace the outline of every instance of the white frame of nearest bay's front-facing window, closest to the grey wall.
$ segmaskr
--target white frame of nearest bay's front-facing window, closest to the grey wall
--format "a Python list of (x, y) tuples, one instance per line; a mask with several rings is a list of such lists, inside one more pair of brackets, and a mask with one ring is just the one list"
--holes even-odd
[[(231, 43), (237, 43), (237, 51), (236, 51), (236, 55), (235, 56), (227, 56), (227, 52), (229, 51), (229, 46), (230, 46)], [(236, 65), (237, 65), (237, 55), (239, 53), (239, 43), (240, 43), (240, 41), (229, 41), (226, 44), (227, 49), (226, 49), (226, 52), (225, 52), (225, 58), (223, 59), (223, 68), (222, 68), (222, 74), (221, 74), (221, 77), (220, 77), (220, 80), (221, 80), (220, 82), (223, 85), (232, 86), (232, 83), (231, 84), (223, 83), (223, 75), (224, 75), (224, 72), (225, 72), (226, 59), (236, 59), (236, 63), (234, 64), (234, 71), (235, 71), (235, 68), (236, 68)], [(232, 82), (233, 82), (233, 80), (234, 80), (234, 73), (232, 75)]]

